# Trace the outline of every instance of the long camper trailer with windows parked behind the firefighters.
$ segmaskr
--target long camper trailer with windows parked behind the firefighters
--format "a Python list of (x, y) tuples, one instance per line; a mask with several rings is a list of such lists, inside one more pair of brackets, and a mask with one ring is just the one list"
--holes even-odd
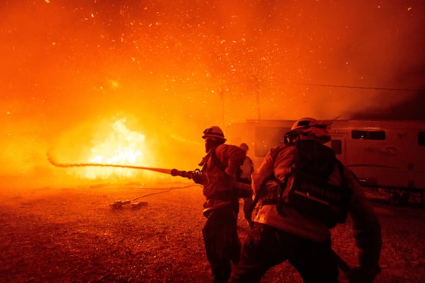
[[(249, 144), (254, 168), (269, 149), (285, 141), (295, 120), (246, 120), (225, 128), (230, 144)], [(356, 174), (358, 182), (397, 204), (424, 203), (425, 121), (329, 120), (326, 145)]]

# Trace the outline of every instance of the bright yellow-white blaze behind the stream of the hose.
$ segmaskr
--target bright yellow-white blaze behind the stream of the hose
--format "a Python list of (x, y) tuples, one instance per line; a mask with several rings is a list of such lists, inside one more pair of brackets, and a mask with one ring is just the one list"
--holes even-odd
[[(122, 118), (110, 124), (111, 130), (106, 137), (94, 140), (91, 148), (89, 163), (135, 165), (144, 157), (142, 149), (145, 149), (145, 135), (135, 132), (125, 126), (126, 118)], [(128, 178), (135, 174), (127, 168), (84, 168), (86, 178), (109, 178), (118, 175), (120, 178)]]

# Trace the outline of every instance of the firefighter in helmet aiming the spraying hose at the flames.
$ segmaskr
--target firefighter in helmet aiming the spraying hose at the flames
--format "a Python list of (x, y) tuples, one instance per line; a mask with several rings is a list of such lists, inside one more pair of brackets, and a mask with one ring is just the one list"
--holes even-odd
[(203, 227), (205, 251), (213, 282), (227, 282), (232, 263), (239, 262), (241, 244), (237, 235), (238, 191), (232, 187), (236, 173), (246, 156), (239, 146), (225, 144), (225, 135), (217, 126), (205, 129), (205, 152), (199, 166), (202, 174), (193, 180), (203, 185)]

